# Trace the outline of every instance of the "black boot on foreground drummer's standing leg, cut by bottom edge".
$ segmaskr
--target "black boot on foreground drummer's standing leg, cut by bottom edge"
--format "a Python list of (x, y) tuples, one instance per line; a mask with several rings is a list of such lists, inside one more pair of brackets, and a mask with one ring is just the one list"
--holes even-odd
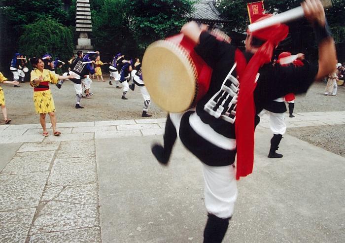
[(228, 230), (230, 218), (218, 218), (208, 213), (208, 219), (204, 230), (204, 243), (221, 243)]

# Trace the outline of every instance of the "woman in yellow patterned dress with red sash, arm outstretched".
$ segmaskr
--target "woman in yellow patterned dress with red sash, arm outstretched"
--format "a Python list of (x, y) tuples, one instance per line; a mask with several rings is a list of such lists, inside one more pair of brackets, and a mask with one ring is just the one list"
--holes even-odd
[(43, 129), (43, 136), (48, 137), (45, 125), (45, 115), (48, 113), (53, 127), (54, 136), (61, 133), (56, 130), (56, 116), (53, 96), (49, 89), (49, 83), (56, 84), (59, 79), (73, 78), (73, 76), (61, 76), (53, 73), (48, 69), (44, 69), (44, 62), (41, 58), (34, 57), (31, 59), (31, 65), (35, 68), (31, 71), (31, 85), (34, 87), (34, 104), (37, 114), (39, 114), (39, 122)]

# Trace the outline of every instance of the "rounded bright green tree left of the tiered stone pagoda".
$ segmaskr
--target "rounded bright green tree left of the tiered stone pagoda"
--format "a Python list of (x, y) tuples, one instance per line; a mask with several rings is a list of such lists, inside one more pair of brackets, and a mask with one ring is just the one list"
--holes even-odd
[(19, 46), (19, 51), (30, 57), (48, 52), (62, 60), (68, 60), (73, 53), (72, 33), (55, 20), (44, 18), (24, 26)]

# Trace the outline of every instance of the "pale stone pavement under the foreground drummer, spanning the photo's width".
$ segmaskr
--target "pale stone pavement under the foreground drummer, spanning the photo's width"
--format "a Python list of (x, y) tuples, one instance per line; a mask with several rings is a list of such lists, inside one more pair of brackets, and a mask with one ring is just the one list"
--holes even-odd
[[(345, 124), (345, 111), (295, 115), (288, 127)], [(164, 124), (58, 123), (47, 138), (39, 124), (1, 125), (0, 242), (202, 242), (200, 163), (178, 142), (158, 165)], [(345, 158), (284, 136), (284, 157), (267, 159), (268, 127), (265, 116), (224, 242), (343, 242)]]

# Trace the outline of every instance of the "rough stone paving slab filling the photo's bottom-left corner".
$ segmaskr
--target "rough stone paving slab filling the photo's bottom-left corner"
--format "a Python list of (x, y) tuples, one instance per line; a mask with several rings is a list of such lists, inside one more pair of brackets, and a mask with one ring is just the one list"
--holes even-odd
[(0, 242), (25, 243), (35, 208), (14, 211), (0, 211)]

